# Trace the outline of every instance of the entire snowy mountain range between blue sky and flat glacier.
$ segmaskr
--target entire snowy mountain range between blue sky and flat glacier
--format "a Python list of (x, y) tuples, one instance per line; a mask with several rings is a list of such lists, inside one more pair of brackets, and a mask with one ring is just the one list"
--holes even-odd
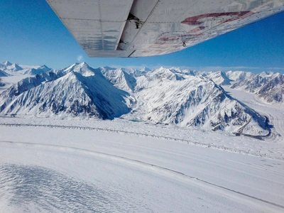
[(94, 69), (84, 62), (61, 70), (4, 62), (0, 69), (1, 116), (123, 117), (265, 136), (270, 133), (266, 116), (232, 98), (222, 86), (283, 103), (284, 77), (272, 72)]

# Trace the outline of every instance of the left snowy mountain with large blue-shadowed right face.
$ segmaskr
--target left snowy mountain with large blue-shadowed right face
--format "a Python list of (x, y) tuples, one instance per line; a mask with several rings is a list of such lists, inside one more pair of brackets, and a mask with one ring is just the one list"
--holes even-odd
[[(90, 75), (92, 74), (92, 75)], [(21, 80), (0, 94), (0, 114), (92, 116), (113, 119), (130, 111), (127, 92), (85, 63)]]

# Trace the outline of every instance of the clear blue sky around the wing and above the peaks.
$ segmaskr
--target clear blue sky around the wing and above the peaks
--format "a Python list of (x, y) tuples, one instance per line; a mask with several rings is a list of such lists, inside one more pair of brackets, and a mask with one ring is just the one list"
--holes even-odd
[(178, 53), (148, 58), (89, 58), (45, 0), (0, 0), (0, 62), (62, 68), (190, 67), (284, 73), (284, 13)]

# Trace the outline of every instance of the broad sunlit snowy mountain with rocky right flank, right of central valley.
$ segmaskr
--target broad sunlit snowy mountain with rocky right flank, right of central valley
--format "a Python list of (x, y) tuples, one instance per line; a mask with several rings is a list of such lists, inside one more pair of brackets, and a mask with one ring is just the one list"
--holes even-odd
[(257, 114), (222, 87), (202, 76), (176, 78), (170, 70), (155, 70), (138, 78), (139, 95), (147, 103), (146, 119), (154, 123), (200, 126), (236, 133), (266, 135), (266, 117)]

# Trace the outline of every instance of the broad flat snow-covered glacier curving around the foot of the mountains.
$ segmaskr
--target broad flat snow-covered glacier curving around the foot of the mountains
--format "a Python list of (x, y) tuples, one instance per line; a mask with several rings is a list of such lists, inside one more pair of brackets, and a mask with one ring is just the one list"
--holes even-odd
[(283, 106), (233, 96), (279, 135), (1, 117), (0, 212), (284, 212)]

